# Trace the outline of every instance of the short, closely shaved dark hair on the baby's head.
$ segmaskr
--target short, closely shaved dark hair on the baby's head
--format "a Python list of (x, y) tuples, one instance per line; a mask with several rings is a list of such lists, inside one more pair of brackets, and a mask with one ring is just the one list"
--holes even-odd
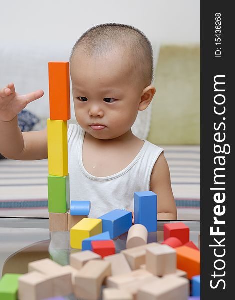
[(135, 77), (142, 84), (150, 85), (153, 81), (153, 50), (150, 41), (139, 29), (125, 24), (106, 23), (87, 30), (74, 44), (69, 61), (76, 49), (86, 55), (104, 55), (109, 50), (121, 49), (136, 71)]

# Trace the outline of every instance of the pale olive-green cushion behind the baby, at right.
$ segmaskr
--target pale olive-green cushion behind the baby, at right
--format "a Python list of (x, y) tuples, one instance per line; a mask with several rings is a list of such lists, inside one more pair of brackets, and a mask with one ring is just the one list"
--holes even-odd
[(160, 48), (148, 140), (200, 144), (200, 46)]

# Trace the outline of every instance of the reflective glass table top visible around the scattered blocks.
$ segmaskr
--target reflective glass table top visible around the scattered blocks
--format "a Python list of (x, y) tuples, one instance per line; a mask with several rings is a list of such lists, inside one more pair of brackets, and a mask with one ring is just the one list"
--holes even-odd
[[(158, 221), (158, 231), (148, 233), (148, 243), (163, 240), (163, 225), (177, 221)], [(190, 229), (190, 240), (198, 246), (200, 221), (184, 222)], [(125, 249), (127, 233), (114, 240), (116, 253)], [(61, 265), (69, 264), (69, 232), (50, 232), (48, 218), (0, 217), (0, 278), (5, 273), (27, 273), (31, 261), (51, 258)]]

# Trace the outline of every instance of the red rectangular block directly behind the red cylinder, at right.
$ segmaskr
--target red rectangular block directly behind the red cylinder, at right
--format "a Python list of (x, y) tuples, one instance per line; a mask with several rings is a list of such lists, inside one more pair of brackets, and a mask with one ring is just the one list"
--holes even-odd
[(169, 223), (163, 225), (164, 241), (169, 237), (178, 238), (182, 244), (189, 241), (189, 227), (184, 223)]

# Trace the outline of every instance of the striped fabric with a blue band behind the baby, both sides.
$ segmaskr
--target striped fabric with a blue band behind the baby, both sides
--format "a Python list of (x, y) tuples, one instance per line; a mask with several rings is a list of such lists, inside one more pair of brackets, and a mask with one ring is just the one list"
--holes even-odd
[[(200, 219), (200, 146), (164, 146), (178, 219)], [(45, 217), (47, 159), (0, 160), (0, 216)]]

